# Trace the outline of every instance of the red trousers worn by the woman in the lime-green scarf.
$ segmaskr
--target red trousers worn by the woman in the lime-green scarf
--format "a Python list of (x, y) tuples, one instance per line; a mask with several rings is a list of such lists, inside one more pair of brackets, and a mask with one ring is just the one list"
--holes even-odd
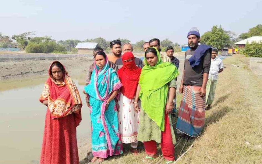
[[(157, 153), (156, 141), (144, 141), (145, 153), (148, 155)], [(169, 124), (168, 115), (165, 114), (165, 131), (161, 136), (161, 150), (165, 159), (173, 161), (175, 159), (175, 150), (172, 141), (171, 129)]]

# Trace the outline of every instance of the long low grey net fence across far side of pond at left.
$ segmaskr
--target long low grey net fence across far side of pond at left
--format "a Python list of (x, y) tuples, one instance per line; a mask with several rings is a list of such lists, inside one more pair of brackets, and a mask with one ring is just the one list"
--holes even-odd
[(23, 61), (23, 60), (60, 60), (71, 57), (89, 57), (92, 54), (2, 54), (0, 61)]

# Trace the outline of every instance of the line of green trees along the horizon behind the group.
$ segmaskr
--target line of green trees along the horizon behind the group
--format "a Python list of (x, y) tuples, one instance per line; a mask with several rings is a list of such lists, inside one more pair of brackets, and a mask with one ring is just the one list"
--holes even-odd
[[(106, 51), (109, 51), (110, 41), (107, 41), (106, 39), (99, 37), (95, 39), (86, 39), (86, 40), (76, 40), (76, 39), (68, 39), (68, 40), (60, 40), (56, 41), (54, 39), (51, 39), (49, 36), (43, 36), (43, 37), (33, 37), (34, 32), (24, 32), (20, 35), (13, 35), (11, 37), (4, 36), (0, 33), (0, 47), (10, 47), (17, 44), (17, 47), (21, 50), (25, 50), (28, 53), (76, 53), (76, 45), (79, 42), (97, 42), (98, 46), (103, 48)], [(213, 47), (218, 48), (219, 50), (222, 50), (225, 46), (233, 45), (235, 42), (238, 42), (240, 40), (249, 38), (251, 36), (262, 36), (262, 25), (258, 24), (257, 26), (249, 29), (248, 32), (240, 34), (238, 37), (236, 34), (232, 31), (226, 31), (222, 28), (222, 26), (213, 26), (211, 28), (211, 31), (205, 32), (201, 36), (201, 43), (211, 45)], [(130, 40), (128, 39), (120, 39), (118, 38), (122, 44), (124, 43), (130, 43)], [(134, 51), (142, 51), (143, 43), (146, 42), (144, 40), (141, 40), (139, 42), (136, 42), (133, 45)], [(181, 51), (180, 45), (178, 43), (173, 43), (169, 39), (164, 39), (161, 41), (161, 49), (165, 51), (167, 46), (173, 46), (174, 50), (176, 52)], [(261, 43), (254, 44), (254, 45), (248, 45), (249, 49), (252, 49), (256, 51), (257, 54), (260, 53), (260, 45)], [(252, 48), (250, 48), (252, 47)], [(258, 47), (258, 48), (257, 48)], [(248, 56), (254, 56), (252, 55), (251, 51), (242, 51), (244, 54)], [(250, 55), (251, 54), (251, 55)], [(253, 53), (254, 54), (254, 53)], [(260, 54), (262, 56), (262, 54)]]

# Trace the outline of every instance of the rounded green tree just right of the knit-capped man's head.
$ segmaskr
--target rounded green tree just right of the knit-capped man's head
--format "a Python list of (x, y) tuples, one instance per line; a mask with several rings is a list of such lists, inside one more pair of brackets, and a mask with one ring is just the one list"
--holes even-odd
[(213, 26), (211, 31), (205, 32), (202, 35), (200, 42), (202, 44), (211, 45), (220, 50), (231, 43), (228, 32), (226, 32), (221, 25), (219, 27)]

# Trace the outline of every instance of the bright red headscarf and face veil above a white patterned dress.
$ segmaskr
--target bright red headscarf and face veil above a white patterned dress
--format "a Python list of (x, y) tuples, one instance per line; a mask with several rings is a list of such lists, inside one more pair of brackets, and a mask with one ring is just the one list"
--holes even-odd
[[(124, 60), (129, 59), (133, 60), (124, 62)], [(136, 95), (136, 88), (141, 74), (141, 68), (136, 66), (135, 57), (132, 52), (124, 53), (122, 55), (122, 62), (123, 67), (117, 71), (119, 79), (123, 84), (121, 87), (121, 93), (129, 99), (133, 99)]]

